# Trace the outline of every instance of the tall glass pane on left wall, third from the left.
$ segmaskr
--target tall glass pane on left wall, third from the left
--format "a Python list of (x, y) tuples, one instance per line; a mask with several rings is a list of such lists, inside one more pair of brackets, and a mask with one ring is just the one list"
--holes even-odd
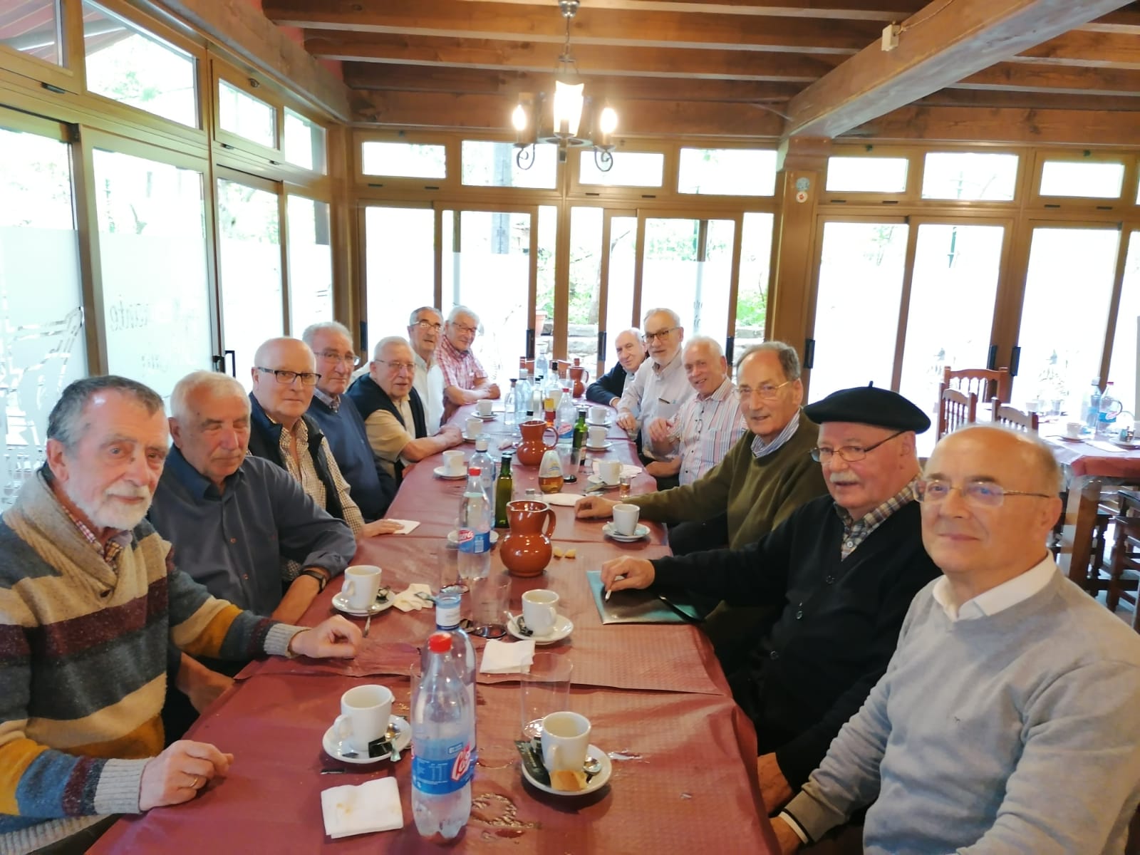
[(222, 337), (246, 389), (261, 342), (285, 334), (277, 196), (218, 179)]

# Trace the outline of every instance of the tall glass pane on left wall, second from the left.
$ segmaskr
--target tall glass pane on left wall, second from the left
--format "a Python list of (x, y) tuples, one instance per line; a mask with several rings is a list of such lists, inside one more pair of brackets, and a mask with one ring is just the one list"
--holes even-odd
[(165, 398), (212, 367), (202, 173), (93, 157), (107, 364)]

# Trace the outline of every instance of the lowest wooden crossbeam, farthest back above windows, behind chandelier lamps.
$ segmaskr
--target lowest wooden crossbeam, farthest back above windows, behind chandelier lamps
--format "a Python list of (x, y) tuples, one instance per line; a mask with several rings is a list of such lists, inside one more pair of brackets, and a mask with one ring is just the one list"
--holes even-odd
[[(513, 133), (511, 111), (516, 104), (503, 95), (382, 91), (358, 91), (353, 101), (357, 121), (369, 125), (503, 133)], [(628, 100), (613, 107), (620, 122), (619, 138), (644, 135), (775, 140), (783, 129), (783, 119), (750, 104)]]

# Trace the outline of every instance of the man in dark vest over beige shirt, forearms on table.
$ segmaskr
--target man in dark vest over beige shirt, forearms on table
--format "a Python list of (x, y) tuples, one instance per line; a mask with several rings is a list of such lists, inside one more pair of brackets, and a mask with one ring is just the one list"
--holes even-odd
[(427, 432), (426, 414), (415, 390), (416, 364), (412, 348), (398, 335), (376, 342), (368, 373), (357, 377), (348, 394), (364, 416), (372, 450), (384, 466), (404, 480), (412, 464), (463, 442), (454, 424)]

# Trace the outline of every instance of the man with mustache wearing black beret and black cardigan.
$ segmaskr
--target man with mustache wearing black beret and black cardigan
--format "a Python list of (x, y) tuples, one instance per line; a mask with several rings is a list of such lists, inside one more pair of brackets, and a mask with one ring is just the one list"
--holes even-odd
[(718, 650), (756, 725), (765, 805), (798, 790), (887, 668), (914, 595), (938, 576), (922, 547), (914, 437), (930, 420), (895, 392), (844, 389), (804, 408), (830, 496), (754, 544), (602, 565), (606, 589), (693, 591), (780, 614), (743, 656)]

